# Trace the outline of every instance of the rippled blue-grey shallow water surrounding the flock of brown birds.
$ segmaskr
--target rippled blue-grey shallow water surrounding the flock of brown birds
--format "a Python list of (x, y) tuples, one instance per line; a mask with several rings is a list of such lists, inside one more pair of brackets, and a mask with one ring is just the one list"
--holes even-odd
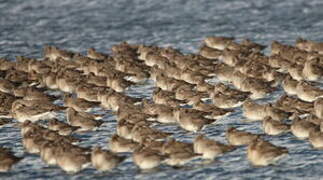
[[(323, 41), (323, 1), (321, 0), (0, 0), (0, 56), (41, 57), (43, 45), (55, 45), (84, 53), (94, 47), (109, 52), (113, 44), (130, 43), (173, 46), (185, 53), (197, 52), (201, 40), (210, 35), (249, 38), (263, 44), (273, 40), (292, 44), (297, 37)], [(268, 52), (268, 49), (266, 49)], [(149, 97), (151, 83), (132, 87), (130, 95)], [(273, 94), (273, 100), (281, 92)], [(59, 103), (59, 102), (58, 102)], [(105, 113), (106, 123), (97, 132), (79, 135), (81, 145), (106, 146), (115, 132), (115, 117)], [(63, 117), (64, 118), (64, 117)], [(262, 133), (259, 123), (245, 123), (241, 110), (203, 130), (208, 137), (225, 141), (224, 130), (239, 127)], [(191, 141), (193, 133), (175, 126), (159, 126), (176, 132), (178, 140)], [(0, 179), (319, 179), (323, 176), (323, 152), (290, 134), (266, 137), (289, 149), (289, 156), (276, 166), (252, 167), (246, 148), (239, 148), (208, 165), (192, 163), (182, 169), (162, 166), (159, 171), (143, 173), (128, 158), (110, 173), (86, 169), (68, 175), (57, 167), (48, 167), (38, 156), (24, 154), (19, 130), (12, 125), (0, 129), (0, 146), (12, 147), (24, 155), (9, 173)]]

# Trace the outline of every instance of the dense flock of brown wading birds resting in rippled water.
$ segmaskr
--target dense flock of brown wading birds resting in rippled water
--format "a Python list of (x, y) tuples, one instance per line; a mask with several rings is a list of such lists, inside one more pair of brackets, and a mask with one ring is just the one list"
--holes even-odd
[[(89, 165), (112, 170), (127, 157), (118, 154), (124, 152), (131, 152), (134, 164), (145, 170), (160, 164), (183, 166), (197, 158), (212, 161), (244, 145), (254, 166), (273, 164), (288, 154), (286, 148), (263, 140), (263, 134), (234, 127), (226, 130), (228, 144), (203, 134), (197, 134), (192, 143), (181, 142), (171, 138), (172, 133), (152, 127), (174, 124), (199, 132), (240, 106), (249, 121), (262, 121), (266, 134), (291, 132), (308, 139), (313, 148), (323, 149), (323, 89), (315, 82), (323, 77), (323, 43), (298, 39), (290, 46), (274, 41), (270, 56), (262, 53), (264, 48), (247, 39), (237, 43), (233, 38), (208, 37), (199, 54), (121, 43), (112, 47), (111, 55), (90, 48), (84, 56), (46, 46), (41, 60), (2, 58), (0, 113), (6, 118), (1, 125), (17, 120), (13, 127), (21, 129), (25, 150), (68, 173)], [(208, 83), (214, 77), (220, 83)], [(147, 79), (156, 86), (152, 100), (123, 93)], [(285, 94), (277, 101), (255, 102), (280, 86)], [(48, 89), (64, 93), (49, 95)], [(64, 106), (53, 103), (60, 96)], [(208, 98), (212, 103), (206, 102)], [(96, 106), (117, 116), (109, 150), (78, 146), (79, 139), (72, 136), (107, 123), (89, 113)], [(66, 112), (66, 122), (56, 119), (59, 111)], [(0, 147), (1, 172), (21, 159)]]

